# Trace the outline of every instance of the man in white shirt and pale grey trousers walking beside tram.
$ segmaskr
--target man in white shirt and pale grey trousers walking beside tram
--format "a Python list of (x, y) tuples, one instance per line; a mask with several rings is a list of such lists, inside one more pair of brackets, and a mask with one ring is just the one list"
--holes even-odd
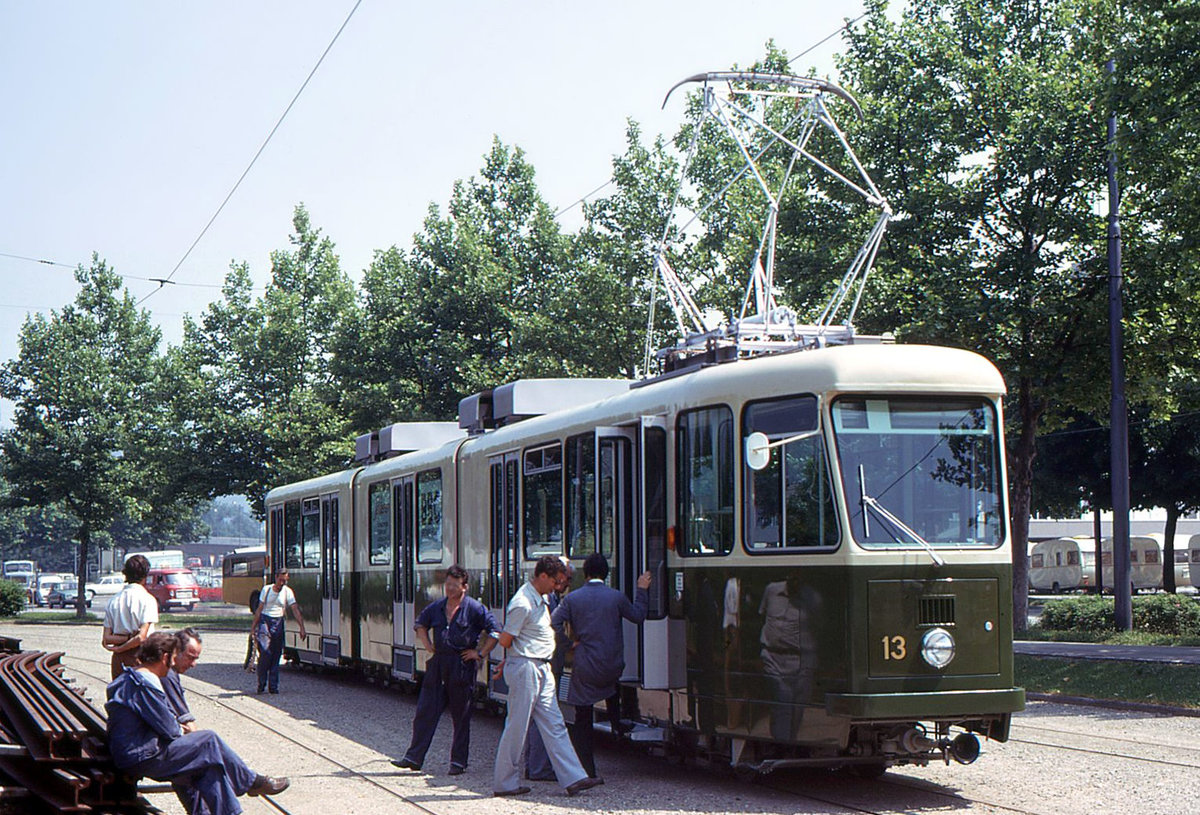
[(517, 589), (509, 601), (500, 631), (505, 648), (504, 681), (509, 685), (509, 714), (496, 748), (496, 774), (492, 793), (516, 796), (529, 792), (521, 786), (521, 759), (530, 719), (541, 732), (550, 762), (566, 795), (575, 796), (598, 784), (588, 778), (566, 736), (563, 712), (558, 708), (551, 658), (554, 655), (554, 629), (550, 624), (546, 595), (554, 591), (562, 562), (552, 555), (538, 561), (533, 577)]

